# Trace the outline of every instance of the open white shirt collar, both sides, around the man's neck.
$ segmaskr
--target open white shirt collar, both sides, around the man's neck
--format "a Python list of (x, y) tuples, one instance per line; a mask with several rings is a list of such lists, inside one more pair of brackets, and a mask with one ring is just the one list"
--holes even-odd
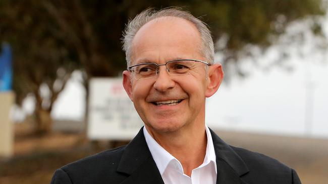
[[(212, 141), (212, 136), (209, 131), (209, 128), (205, 125), (205, 130), (206, 130), (206, 135), (207, 135), (207, 145), (206, 145), (206, 153), (205, 153), (205, 158), (203, 163), (199, 166), (205, 166), (209, 162), (212, 162), (214, 167), (215, 167), (215, 172), (217, 173), (216, 170), (216, 156), (215, 156), (215, 151), (214, 151), (214, 146), (213, 146), (213, 141)], [(146, 139), (146, 143), (148, 145), (148, 148), (150, 150), (151, 156), (153, 157), (157, 168), (159, 170), (160, 175), (164, 173), (168, 165), (170, 164), (171, 161), (176, 160), (179, 165), (181, 163), (179, 162), (178, 159), (176, 159), (173, 155), (171, 155), (167, 150), (165, 150), (163, 147), (161, 147), (153, 137), (148, 133), (147, 129), (143, 127), (143, 134)], [(180, 170), (180, 169), (179, 169)], [(180, 170), (183, 172), (183, 170)]]

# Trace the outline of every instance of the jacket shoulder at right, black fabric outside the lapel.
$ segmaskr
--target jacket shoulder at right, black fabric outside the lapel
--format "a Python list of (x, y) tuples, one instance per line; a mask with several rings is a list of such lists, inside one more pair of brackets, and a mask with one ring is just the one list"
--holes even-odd
[(299, 180), (295, 170), (280, 161), (244, 148), (231, 147), (247, 165), (249, 173), (244, 177), (251, 183), (298, 183), (295, 182)]

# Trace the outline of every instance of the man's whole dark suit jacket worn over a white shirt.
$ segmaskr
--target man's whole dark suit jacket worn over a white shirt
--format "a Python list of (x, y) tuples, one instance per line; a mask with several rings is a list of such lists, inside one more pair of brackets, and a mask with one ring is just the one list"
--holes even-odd
[[(211, 131), (216, 183), (301, 183), (295, 170), (260, 153), (226, 144)], [(126, 146), (70, 163), (54, 173), (51, 184), (163, 183), (142, 129)], [(206, 184), (206, 183), (204, 183)]]

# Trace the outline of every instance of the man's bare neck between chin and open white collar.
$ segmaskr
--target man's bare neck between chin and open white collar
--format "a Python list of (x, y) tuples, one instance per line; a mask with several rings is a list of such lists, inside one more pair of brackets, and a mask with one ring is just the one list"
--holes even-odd
[(157, 133), (146, 126), (156, 142), (180, 161), (184, 173), (188, 176), (191, 175), (192, 169), (203, 163), (207, 145), (205, 124), (192, 127), (194, 128), (188, 128), (184, 133), (182, 129), (176, 132)]

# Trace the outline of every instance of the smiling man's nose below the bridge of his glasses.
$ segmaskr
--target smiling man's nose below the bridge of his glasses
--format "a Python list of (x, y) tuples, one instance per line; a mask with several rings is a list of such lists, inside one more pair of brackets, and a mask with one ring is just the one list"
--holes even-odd
[(168, 89), (171, 89), (175, 85), (175, 81), (172, 80), (172, 75), (169, 74), (167, 68), (165, 67), (158, 67), (157, 76), (153, 87), (161, 92), (165, 92)]

